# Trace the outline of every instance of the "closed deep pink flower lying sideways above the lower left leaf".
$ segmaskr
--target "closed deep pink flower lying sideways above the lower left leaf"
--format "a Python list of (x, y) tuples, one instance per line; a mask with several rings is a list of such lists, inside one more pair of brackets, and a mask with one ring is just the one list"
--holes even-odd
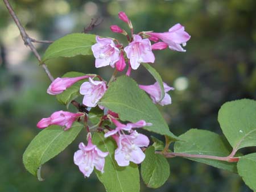
[(74, 114), (73, 112), (68, 111), (56, 111), (53, 112), (53, 114), (49, 118), (41, 119), (36, 126), (38, 128), (46, 128), (55, 124), (57, 126), (65, 126), (64, 130), (68, 130), (69, 128), (71, 128), (73, 122), (75, 122), (75, 120), (82, 115), (84, 114)]

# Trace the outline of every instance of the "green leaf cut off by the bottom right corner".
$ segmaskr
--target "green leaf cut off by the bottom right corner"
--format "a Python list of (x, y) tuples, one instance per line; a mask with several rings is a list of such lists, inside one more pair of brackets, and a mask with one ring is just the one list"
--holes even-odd
[(256, 153), (242, 156), (237, 163), (238, 174), (253, 191), (256, 191)]

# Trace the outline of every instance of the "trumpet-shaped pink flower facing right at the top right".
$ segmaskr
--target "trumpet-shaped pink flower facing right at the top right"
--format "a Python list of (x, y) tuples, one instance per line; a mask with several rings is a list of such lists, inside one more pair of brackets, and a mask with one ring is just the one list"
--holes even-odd
[(169, 45), (170, 49), (181, 52), (185, 52), (185, 49), (183, 49), (180, 44), (185, 46), (186, 42), (190, 39), (190, 35), (185, 32), (185, 28), (179, 23), (171, 27), (169, 32), (146, 32), (146, 34), (161, 39), (164, 43)]

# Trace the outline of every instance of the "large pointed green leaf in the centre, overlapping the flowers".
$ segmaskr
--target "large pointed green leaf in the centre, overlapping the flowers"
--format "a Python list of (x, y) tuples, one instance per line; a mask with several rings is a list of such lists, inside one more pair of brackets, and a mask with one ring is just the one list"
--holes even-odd
[(177, 140), (177, 137), (170, 132), (158, 108), (130, 77), (121, 76), (112, 82), (98, 104), (117, 112), (123, 121), (134, 123), (143, 119), (147, 123), (152, 123), (152, 126), (144, 129), (168, 135)]

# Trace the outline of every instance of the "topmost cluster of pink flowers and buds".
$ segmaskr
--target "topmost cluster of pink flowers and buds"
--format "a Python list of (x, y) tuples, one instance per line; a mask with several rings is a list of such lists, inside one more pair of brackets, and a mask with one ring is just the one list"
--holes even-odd
[[(129, 25), (132, 37), (130, 38), (127, 32), (117, 25), (111, 26), (110, 30), (126, 35), (129, 45), (123, 48), (123, 45), (115, 39), (97, 36), (97, 43), (92, 46), (93, 55), (96, 58), (96, 68), (110, 65), (112, 68), (115, 67), (117, 70), (122, 71), (126, 66), (123, 52), (126, 53), (125, 58), (129, 59), (129, 65), (134, 70), (138, 69), (142, 62), (155, 62), (155, 56), (152, 52), (154, 49), (162, 50), (169, 47), (175, 51), (185, 52), (181, 45), (185, 46), (190, 39), (190, 35), (185, 32), (185, 28), (181, 24), (175, 24), (168, 32), (139, 32), (138, 34), (133, 34), (133, 26), (127, 15), (124, 12), (119, 12), (118, 16)], [(155, 44), (151, 45), (150, 40), (154, 41)]]

